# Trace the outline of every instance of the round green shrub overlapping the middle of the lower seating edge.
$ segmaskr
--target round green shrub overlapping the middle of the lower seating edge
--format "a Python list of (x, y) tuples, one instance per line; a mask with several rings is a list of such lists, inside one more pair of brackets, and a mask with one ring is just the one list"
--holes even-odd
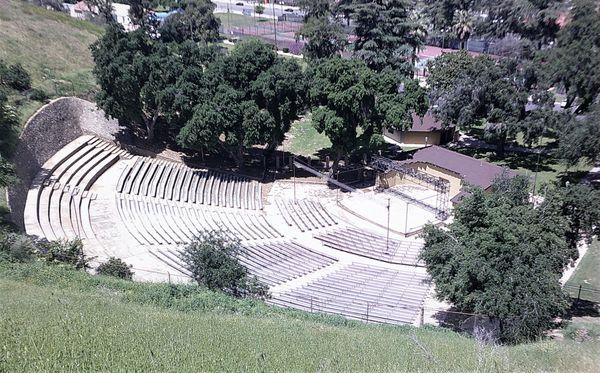
[(240, 244), (228, 241), (221, 232), (204, 233), (185, 247), (182, 258), (199, 285), (242, 297), (264, 299), (267, 287), (238, 261)]

